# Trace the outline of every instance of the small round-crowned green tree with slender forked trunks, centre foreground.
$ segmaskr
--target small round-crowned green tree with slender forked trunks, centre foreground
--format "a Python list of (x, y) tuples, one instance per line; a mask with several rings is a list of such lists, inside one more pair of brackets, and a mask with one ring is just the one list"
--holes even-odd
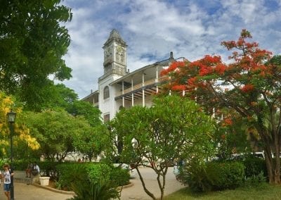
[[(195, 102), (180, 96), (156, 98), (151, 108), (122, 109), (110, 122), (110, 127), (111, 143), (115, 144), (117, 138), (123, 142), (120, 161), (136, 168), (143, 189), (152, 199), (156, 199), (155, 195), (145, 186), (140, 165), (155, 171), (163, 199), (171, 163), (179, 158), (203, 161), (213, 152), (214, 123)], [(117, 148), (112, 149), (117, 154)]]

